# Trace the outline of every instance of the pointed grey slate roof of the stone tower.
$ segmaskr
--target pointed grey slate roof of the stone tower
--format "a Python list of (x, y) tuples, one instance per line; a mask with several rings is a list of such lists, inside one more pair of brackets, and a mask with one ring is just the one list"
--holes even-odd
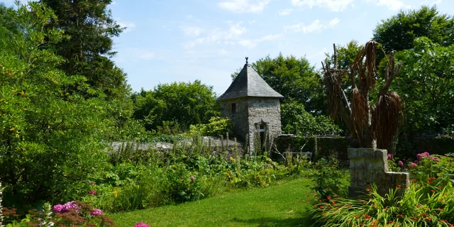
[(272, 89), (247, 62), (227, 91), (219, 96), (218, 100), (236, 99), (245, 96), (284, 97)]

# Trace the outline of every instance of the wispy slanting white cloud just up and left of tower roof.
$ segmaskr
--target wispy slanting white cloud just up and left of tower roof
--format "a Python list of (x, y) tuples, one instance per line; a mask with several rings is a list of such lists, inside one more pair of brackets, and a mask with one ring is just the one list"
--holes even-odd
[(215, 28), (209, 33), (208, 36), (196, 38), (195, 40), (190, 40), (184, 45), (184, 47), (192, 48), (195, 45), (204, 43), (234, 44), (235, 43), (233, 42), (234, 40), (240, 39), (241, 35), (248, 31), (248, 29), (242, 26), (242, 23), (233, 23), (232, 21), (226, 21), (226, 23), (230, 26), (228, 30)]

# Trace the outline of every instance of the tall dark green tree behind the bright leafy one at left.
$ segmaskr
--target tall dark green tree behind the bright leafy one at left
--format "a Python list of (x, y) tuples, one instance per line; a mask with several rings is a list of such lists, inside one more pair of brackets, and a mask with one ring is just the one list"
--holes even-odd
[(65, 57), (61, 69), (69, 75), (79, 74), (95, 89), (101, 89), (109, 98), (128, 93), (126, 74), (110, 57), (112, 38), (121, 28), (107, 8), (111, 0), (40, 0), (55, 12), (57, 20), (50, 28), (64, 31), (67, 38), (55, 45), (57, 54)]

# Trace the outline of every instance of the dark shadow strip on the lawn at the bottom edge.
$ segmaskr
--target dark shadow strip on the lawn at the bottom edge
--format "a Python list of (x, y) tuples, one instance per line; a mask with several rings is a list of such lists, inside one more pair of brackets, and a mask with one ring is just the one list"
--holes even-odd
[(271, 226), (312, 226), (314, 220), (309, 216), (294, 216), (289, 218), (233, 218), (232, 221), (248, 223), (251, 226), (271, 227)]

